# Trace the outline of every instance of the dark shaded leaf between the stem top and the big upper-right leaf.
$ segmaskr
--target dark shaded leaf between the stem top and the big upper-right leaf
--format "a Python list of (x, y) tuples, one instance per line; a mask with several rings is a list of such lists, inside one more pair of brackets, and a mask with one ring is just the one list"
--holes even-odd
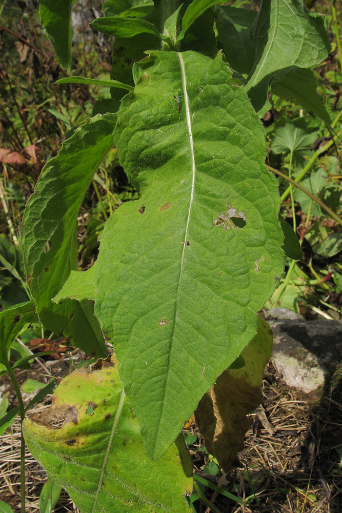
[(249, 73), (254, 64), (250, 30), (256, 11), (222, 6), (218, 8), (216, 28), (225, 56), (231, 67), (241, 74)]

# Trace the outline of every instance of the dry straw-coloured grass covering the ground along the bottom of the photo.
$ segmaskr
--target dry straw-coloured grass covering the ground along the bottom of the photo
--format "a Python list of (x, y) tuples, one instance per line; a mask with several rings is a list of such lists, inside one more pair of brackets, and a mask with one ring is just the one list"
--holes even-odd
[[(59, 379), (68, 372), (66, 362), (50, 367)], [(44, 373), (43, 369), (40, 369)], [(35, 379), (39, 368), (34, 367)], [(32, 377), (30, 375), (30, 377)], [(27, 374), (20, 377), (27, 378)], [(263, 383), (263, 405), (253, 413), (254, 423), (239, 455), (242, 466), (223, 476), (219, 485), (249, 499), (240, 506), (218, 494), (215, 506), (222, 513), (340, 513), (342, 511), (342, 469), (336, 447), (342, 444), (342, 365), (337, 368), (319, 394), (308, 396), (289, 389), (272, 362)], [(47, 398), (34, 411), (46, 408)], [(15, 403), (13, 403), (15, 404)], [(196, 471), (206, 462), (206, 453), (196, 425), (189, 428), (198, 435), (199, 444), (192, 446)], [(15, 421), (0, 437), (0, 499), (10, 504), (15, 513), (20, 506), (20, 426)], [(39, 511), (39, 494), (47, 476), (44, 469), (26, 451), (27, 513)], [(218, 483), (220, 475), (206, 476)], [(207, 497), (214, 492), (208, 490)], [(200, 505), (198, 512), (206, 507)], [(77, 513), (66, 492), (59, 498), (55, 511)]]

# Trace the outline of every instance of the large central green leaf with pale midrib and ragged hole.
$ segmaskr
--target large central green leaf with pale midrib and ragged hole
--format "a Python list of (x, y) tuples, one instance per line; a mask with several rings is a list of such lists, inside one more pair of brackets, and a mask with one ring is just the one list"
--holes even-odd
[(157, 459), (254, 337), (283, 273), (283, 232), (263, 129), (228, 66), (155, 52), (135, 75), (115, 141), (142, 197), (106, 223), (95, 311)]

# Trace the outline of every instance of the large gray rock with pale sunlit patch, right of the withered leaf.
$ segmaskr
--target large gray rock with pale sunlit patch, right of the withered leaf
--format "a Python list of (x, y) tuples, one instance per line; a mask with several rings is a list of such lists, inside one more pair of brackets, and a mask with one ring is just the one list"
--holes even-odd
[(304, 392), (324, 385), (327, 372), (342, 361), (342, 322), (269, 319), (273, 361), (289, 386)]

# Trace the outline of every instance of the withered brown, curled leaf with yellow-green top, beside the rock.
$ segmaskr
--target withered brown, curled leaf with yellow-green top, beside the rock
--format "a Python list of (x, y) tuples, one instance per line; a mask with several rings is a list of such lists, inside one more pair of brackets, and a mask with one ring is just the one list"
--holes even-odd
[(228, 472), (237, 453), (244, 448), (247, 430), (253, 424), (249, 413), (261, 403), (261, 383), (270, 359), (272, 330), (258, 319), (258, 332), (242, 351), (245, 366), (227, 369), (200, 400), (195, 411), (196, 423), (208, 451)]

